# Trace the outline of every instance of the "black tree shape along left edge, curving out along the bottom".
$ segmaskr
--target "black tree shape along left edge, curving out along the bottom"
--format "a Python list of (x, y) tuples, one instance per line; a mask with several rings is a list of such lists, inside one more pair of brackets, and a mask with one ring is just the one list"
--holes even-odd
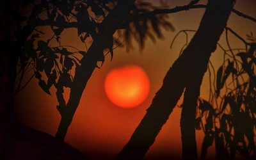
[[(1, 129), (4, 132), (4, 145), (1, 149), (1, 159), (10, 159), (15, 143), (19, 140), (28, 140), (32, 143), (38, 143), (45, 147), (55, 147), (59, 152), (65, 152), (68, 157), (84, 159), (83, 154), (77, 151), (63, 141), (58, 141), (50, 134), (36, 131), (26, 127), (17, 120), (13, 108), (13, 95), (24, 88), (28, 82), (22, 84), (22, 77), (30, 68), (30, 61), (24, 51), (24, 42), (26, 42), (33, 27), (24, 24), (28, 19), (23, 17), (24, 6), (31, 4), (31, 1), (1, 1), (1, 85), (3, 85), (3, 97), (1, 97)], [(33, 10), (33, 13), (35, 10)], [(3, 53), (3, 54), (2, 54)], [(18, 78), (18, 74), (21, 76)], [(18, 81), (18, 88), (15, 89), (15, 81)], [(2, 87), (1, 87), (2, 89)], [(2, 131), (2, 130), (1, 130)]]

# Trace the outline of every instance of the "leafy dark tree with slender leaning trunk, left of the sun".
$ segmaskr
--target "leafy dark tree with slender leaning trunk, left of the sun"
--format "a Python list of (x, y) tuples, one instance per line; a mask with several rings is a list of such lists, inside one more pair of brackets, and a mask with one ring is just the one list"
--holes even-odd
[[(67, 129), (76, 111), (81, 99), (81, 95), (86, 83), (97, 66), (97, 62), (104, 63), (106, 56), (105, 49), (108, 49), (111, 58), (113, 57), (113, 45), (120, 44), (118, 39), (113, 38), (117, 29), (125, 29), (125, 39), (127, 46), (131, 47), (131, 35), (138, 41), (143, 48), (145, 37), (149, 36), (154, 40), (154, 33), (161, 37), (160, 27), (173, 29), (172, 24), (166, 21), (163, 15), (149, 15), (150, 10), (155, 8), (150, 3), (134, 1), (118, 2), (116, 1), (59, 1), (52, 4), (42, 1), (40, 6), (36, 6), (36, 12), (46, 12), (47, 19), (35, 18), (31, 20), (36, 26), (51, 26), (54, 35), (47, 41), (39, 40), (35, 49), (34, 44), (39, 33), (31, 35), (26, 44), (26, 51), (35, 63), (35, 77), (39, 80), (38, 84), (45, 93), (49, 93), (49, 88), (56, 88), (56, 97), (58, 99), (57, 109), (61, 115), (61, 122), (56, 132), (56, 137), (64, 140)], [(113, 7), (113, 9), (111, 9)], [(38, 10), (39, 8), (39, 10)], [(75, 10), (75, 12), (73, 12)], [(90, 15), (88, 10), (92, 10), (95, 17)], [(91, 13), (91, 14), (92, 14)], [(131, 14), (130, 14), (131, 13)], [(143, 14), (147, 16), (143, 16)], [(138, 15), (142, 15), (140, 18)], [(100, 19), (102, 18), (102, 19)], [(71, 19), (71, 20), (69, 20)], [(76, 19), (76, 20), (72, 20)], [(151, 26), (148, 25), (150, 21)], [(68, 48), (72, 46), (61, 45), (61, 32), (65, 28), (77, 28), (77, 35), (86, 45), (88, 38), (92, 39), (92, 44), (86, 51), (70, 52)], [(152, 28), (152, 29), (150, 29)], [(59, 44), (57, 47), (49, 47), (52, 40)], [(80, 55), (77, 55), (80, 54)], [(79, 58), (80, 56), (80, 58)], [(74, 76), (72, 76), (72, 69)], [(46, 79), (42, 76), (45, 73)], [(70, 89), (69, 99), (63, 97), (63, 88)]]

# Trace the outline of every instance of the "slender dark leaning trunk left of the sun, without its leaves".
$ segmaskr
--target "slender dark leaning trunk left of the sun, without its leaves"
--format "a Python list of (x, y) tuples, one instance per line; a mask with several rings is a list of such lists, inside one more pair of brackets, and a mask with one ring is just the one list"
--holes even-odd
[(124, 22), (129, 15), (135, 0), (118, 1), (118, 4), (112, 10), (106, 19), (103, 20), (99, 34), (93, 40), (92, 45), (88, 49), (86, 56), (81, 60), (81, 66), (76, 68), (74, 81), (70, 89), (70, 97), (67, 106), (63, 106), (60, 110), (61, 122), (56, 132), (56, 138), (64, 140), (69, 125), (76, 112), (77, 106), (81, 99), (86, 84), (92, 76), (93, 70), (97, 67), (97, 61), (100, 61), (104, 49), (110, 47), (113, 40), (113, 34), (116, 29)]

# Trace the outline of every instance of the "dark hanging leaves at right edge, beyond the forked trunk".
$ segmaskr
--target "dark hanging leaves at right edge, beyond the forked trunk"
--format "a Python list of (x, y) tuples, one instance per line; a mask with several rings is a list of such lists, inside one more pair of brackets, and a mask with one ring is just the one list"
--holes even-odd
[[(226, 31), (228, 34), (228, 28)], [(247, 35), (248, 36), (248, 35)], [(227, 43), (228, 43), (228, 35)], [(248, 36), (253, 41), (253, 34)], [(215, 142), (217, 159), (255, 159), (256, 73), (255, 42), (248, 49), (223, 49), (223, 64), (212, 80), (214, 68), (209, 64), (210, 97), (198, 99), (195, 129), (204, 131), (201, 159)], [(212, 73), (213, 71), (213, 73)]]

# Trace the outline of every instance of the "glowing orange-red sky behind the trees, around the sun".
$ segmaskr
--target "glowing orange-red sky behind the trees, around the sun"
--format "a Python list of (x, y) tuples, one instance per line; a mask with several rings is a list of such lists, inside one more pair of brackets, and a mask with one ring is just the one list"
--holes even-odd
[[(179, 4), (184, 5), (188, 2), (173, 0), (168, 1), (168, 4), (173, 7)], [(235, 8), (256, 17), (255, 6), (256, 1), (237, 0)], [(147, 40), (143, 51), (140, 51), (137, 47), (130, 52), (126, 52), (125, 48), (115, 49), (113, 60), (110, 61), (110, 56), (108, 56), (103, 67), (93, 72), (81, 98), (76, 115), (68, 129), (66, 141), (81, 150), (81, 152), (84, 152), (88, 157), (94, 159), (100, 159), (100, 157), (104, 157), (104, 159), (106, 157), (113, 158), (131, 137), (132, 132), (145, 115), (146, 109), (150, 106), (155, 93), (160, 88), (168, 68), (178, 57), (180, 47), (184, 44), (185, 38), (180, 36), (171, 50), (170, 43), (173, 36), (181, 29), (197, 29), (203, 13), (203, 9), (196, 9), (170, 15), (170, 21), (176, 29), (175, 32), (164, 31), (164, 40), (157, 40), (156, 44)], [(244, 38), (246, 37), (245, 34), (250, 33), (250, 31), (256, 35), (256, 24), (253, 24), (250, 20), (237, 17), (234, 13), (228, 20), (228, 26)], [(70, 44), (82, 49), (83, 45), (81, 45), (76, 35), (76, 31), (72, 31), (72, 29), (65, 31), (65, 34), (61, 35), (63, 37), (61, 39), (62, 44)], [(230, 38), (234, 37), (230, 36)], [(220, 42), (224, 44), (223, 37)], [(233, 39), (231, 44), (234, 47), (241, 46), (241, 43)], [(212, 54), (211, 60), (215, 67), (219, 67), (222, 63), (221, 55), (222, 53), (219, 49)], [(104, 78), (111, 69), (130, 64), (138, 65), (147, 72), (150, 81), (150, 92), (145, 102), (140, 106), (124, 109), (115, 106), (106, 97), (106, 93), (104, 93)], [(205, 79), (207, 79), (207, 75), (205, 75)], [(17, 115), (24, 124), (54, 135), (60, 122), (60, 114), (56, 109), (55, 91), (51, 90), (52, 96), (47, 95), (39, 88), (37, 83), (37, 80), (33, 79), (15, 98)], [(204, 81), (201, 90), (201, 95), (205, 99), (207, 99), (208, 93), (207, 85), (207, 81)], [(156, 142), (147, 153), (146, 157), (148, 159), (176, 155), (179, 157), (181, 155), (180, 111), (180, 108), (174, 109), (170, 119), (164, 125), (159, 136), (157, 136)], [(197, 135), (198, 148), (200, 148), (200, 141), (202, 141), (202, 136), (200, 135), (202, 133), (197, 132)], [(214, 155), (213, 152), (211, 153), (212, 155)]]

